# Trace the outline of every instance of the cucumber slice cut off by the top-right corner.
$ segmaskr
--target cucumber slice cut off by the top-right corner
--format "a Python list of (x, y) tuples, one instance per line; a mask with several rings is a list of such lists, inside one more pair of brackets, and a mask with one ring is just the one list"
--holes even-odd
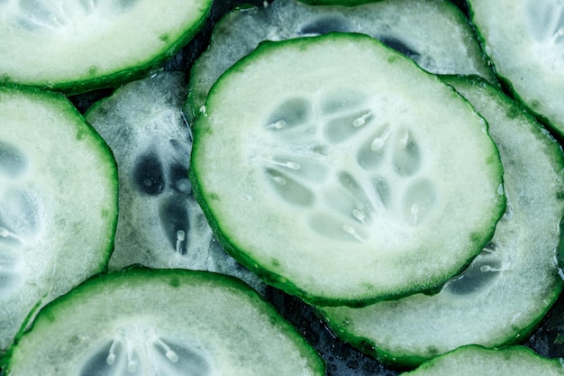
[(533, 114), (564, 135), (564, 7), (559, 0), (470, 0), (496, 72)]

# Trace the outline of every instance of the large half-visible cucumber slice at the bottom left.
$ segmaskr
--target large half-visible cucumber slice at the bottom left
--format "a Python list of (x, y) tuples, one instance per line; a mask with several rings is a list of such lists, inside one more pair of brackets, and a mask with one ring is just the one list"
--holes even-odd
[(314, 349), (240, 280), (139, 268), (45, 307), (6, 362), (11, 376), (324, 374)]

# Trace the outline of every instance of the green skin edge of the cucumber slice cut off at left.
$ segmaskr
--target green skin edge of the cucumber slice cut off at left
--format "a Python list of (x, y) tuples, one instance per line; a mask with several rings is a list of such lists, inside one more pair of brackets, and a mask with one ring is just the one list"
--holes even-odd
[[(80, 142), (86, 142), (87, 146), (90, 149), (96, 150), (96, 157), (98, 157), (99, 162), (104, 165), (104, 178), (107, 178), (104, 181), (104, 184), (107, 186), (109, 192), (113, 192), (113, 197), (111, 198), (111, 200), (105, 202), (104, 207), (100, 207), (100, 209), (102, 210), (101, 216), (105, 218), (105, 228), (101, 228), (101, 230), (103, 230), (105, 234), (105, 241), (104, 243), (97, 244), (98, 248), (96, 249), (96, 255), (93, 255), (93, 257), (96, 258), (96, 261), (92, 260), (94, 261), (94, 263), (90, 263), (88, 265), (79, 265), (80, 270), (86, 272), (86, 274), (84, 274), (84, 276), (80, 280), (74, 280), (73, 283), (74, 286), (76, 286), (90, 276), (105, 271), (107, 261), (114, 251), (114, 234), (117, 226), (118, 211), (118, 182), (117, 166), (115, 164), (113, 153), (109, 149), (105, 141), (102, 139), (102, 137), (100, 137), (100, 135), (96, 133), (94, 128), (90, 124), (86, 123), (84, 117), (80, 115), (80, 113), (77, 111), (77, 108), (72, 105), (72, 103), (66, 96), (63, 96), (62, 94), (57, 92), (51, 92), (49, 90), (42, 90), (36, 87), (25, 87), (14, 84), (0, 85), (0, 96), (23, 96), (23, 98), (28, 100), (37, 100), (38, 105), (48, 106), (50, 109), (59, 112), (61, 115), (64, 114), (65, 120), (67, 121), (67, 124), (65, 124), (65, 126), (73, 123), (71, 125), (76, 126), (76, 129), (69, 131), (76, 132), (77, 139), (80, 140)], [(41, 121), (41, 119), (39, 121)], [(65, 177), (65, 179), (72, 178)], [(68, 251), (66, 252), (68, 253)], [(51, 263), (55, 264), (55, 268), (57, 267), (56, 261), (51, 261)], [(61, 266), (65, 265), (61, 264)], [(59, 285), (61, 279), (58, 278), (58, 276), (60, 276), (61, 274), (64, 275), (64, 272), (65, 271), (63, 268), (50, 271), (50, 280), (43, 280), (43, 283), (46, 283), (48, 285), (57, 283)], [(66, 280), (63, 280), (63, 282), (65, 286), (68, 285), (68, 282)], [(69, 287), (68, 289), (72, 289), (72, 287)], [(68, 292), (68, 289), (62, 286), (43, 287), (43, 296), (35, 303), (32, 309), (28, 312), (27, 316), (23, 319), (19, 331), (16, 329), (16, 336), (19, 335), (19, 333), (22, 333), (25, 328), (32, 323), (34, 316), (41, 309), (41, 307), (48, 304), (52, 299), (58, 298), (60, 295), (64, 295), (66, 292)], [(3, 341), (5, 340), (9, 340), (10, 343), (13, 341), (13, 339), (3, 338)], [(0, 347), (0, 354), (2, 354), (5, 350), (5, 348)]]

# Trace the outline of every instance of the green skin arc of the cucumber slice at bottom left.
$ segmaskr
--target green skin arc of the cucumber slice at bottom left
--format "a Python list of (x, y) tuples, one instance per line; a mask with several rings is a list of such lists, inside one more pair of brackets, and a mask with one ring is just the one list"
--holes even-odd
[[(105, 290), (111, 294), (114, 289), (142, 289), (147, 284), (168, 285), (172, 289), (188, 289), (190, 285), (209, 286), (209, 289), (231, 290), (232, 294), (241, 295), (246, 300), (256, 305), (257, 310), (269, 317), (270, 325), (276, 327), (284, 333), (299, 349), (300, 354), (307, 360), (307, 367), (312, 374), (322, 376), (325, 374), (325, 363), (314, 348), (305, 341), (305, 338), (297, 331), (296, 327), (289, 324), (285, 318), (280, 316), (276, 308), (271, 306), (259, 294), (251, 289), (243, 281), (224, 274), (210, 271), (187, 271), (183, 269), (150, 269), (142, 266), (132, 266), (122, 271), (110, 271), (100, 273), (84, 281), (68, 294), (51, 301), (48, 305), (41, 308), (41, 312), (34, 320), (32, 326), (25, 332), (20, 333), (14, 345), (6, 353), (0, 362), (0, 367), (4, 369), (6, 375), (17, 376), (18, 362), (29, 362), (26, 359), (26, 351), (20, 350), (21, 344), (25, 344), (26, 336), (33, 336), (35, 332), (41, 331), (44, 327), (49, 329), (50, 323), (58, 321), (60, 310), (72, 309), (73, 305), (80, 304), (82, 299), (88, 299), (91, 291)], [(67, 308), (70, 306), (69, 308)], [(141, 306), (141, 303), (140, 303)], [(100, 307), (107, 309), (108, 307)], [(142, 310), (142, 307), (140, 307)], [(77, 318), (77, 321), (79, 318)], [(69, 324), (70, 325), (70, 324)], [(80, 323), (78, 323), (78, 326)], [(49, 341), (49, 337), (44, 338)], [(22, 353), (23, 352), (23, 353)]]

